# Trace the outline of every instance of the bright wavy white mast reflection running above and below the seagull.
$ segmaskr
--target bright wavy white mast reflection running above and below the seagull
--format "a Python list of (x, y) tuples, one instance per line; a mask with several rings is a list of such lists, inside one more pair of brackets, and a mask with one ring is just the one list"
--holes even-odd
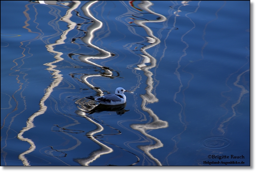
[[(99, 88), (97, 88), (96, 86), (93, 86), (91, 83), (88, 82), (88, 78), (91, 78), (91, 77), (111, 77), (112, 76), (112, 72), (107, 68), (107, 67), (104, 67), (104, 66), (101, 66), (99, 64), (96, 64), (90, 60), (94, 59), (94, 60), (97, 60), (97, 59), (106, 59), (106, 58), (109, 58), (112, 56), (112, 54), (109, 52), (109, 51), (106, 51), (106, 50), (103, 50), (95, 45), (92, 44), (92, 40), (95, 36), (95, 32), (99, 29), (102, 28), (103, 24), (100, 20), (97, 20), (91, 13), (90, 11), (90, 8), (98, 1), (90, 1), (90, 2), (87, 2), (85, 5), (83, 5), (83, 7), (81, 8), (84, 15), (91, 18), (93, 20), (93, 23), (87, 28), (87, 33), (84, 37), (81, 38), (81, 40), (87, 44), (88, 46), (96, 49), (97, 51), (99, 51), (100, 53), (98, 55), (80, 55), (78, 57), (79, 60), (87, 63), (87, 64), (90, 64), (90, 65), (93, 65), (93, 66), (96, 66), (96, 67), (99, 67), (101, 69), (104, 70), (104, 73), (103, 74), (87, 74), (87, 75), (83, 75), (81, 77), (81, 80), (87, 85), (89, 86), (90, 88), (92, 88), (93, 90), (95, 90), (99, 96), (102, 96), (103, 95), (103, 91)], [(89, 122), (93, 123), (94, 125), (96, 125), (96, 129), (95, 130), (92, 130), (90, 132), (88, 132), (86, 135), (89, 139), (91, 139), (93, 142), (97, 143), (101, 149), (100, 150), (97, 150), (95, 152), (92, 152), (91, 155), (87, 158), (79, 158), (79, 159), (74, 159), (74, 161), (78, 162), (80, 165), (90, 165), (90, 163), (92, 163), (93, 161), (95, 161), (96, 159), (98, 159), (99, 157), (101, 157), (102, 155), (104, 154), (108, 154), (108, 153), (111, 153), (113, 152), (113, 149), (108, 147), (107, 145), (101, 143), (97, 138), (94, 137), (95, 134), (101, 132), (104, 130), (104, 127), (102, 127), (102, 125), (100, 125), (99, 123), (95, 122), (93, 119), (89, 118), (86, 116), (86, 113), (85, 112), (82, 112), (82, 111), (77, 111), (76, 112), (79, 116), (83, 116), (85, 117)]]

